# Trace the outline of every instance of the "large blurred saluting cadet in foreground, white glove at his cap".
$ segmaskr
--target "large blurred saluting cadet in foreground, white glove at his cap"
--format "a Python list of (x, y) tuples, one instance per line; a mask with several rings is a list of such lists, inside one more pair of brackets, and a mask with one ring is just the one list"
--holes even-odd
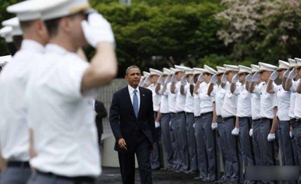
[[(28, 183), (94, 183), (101, 164), (92, 103), (98, 87), (117, 74), (114, 35), (101, 15), (87, 16), (86, 0), (43, 4), (49, 8), (42, 17), (51, 44), (34, 60), (26, 92), (37, 151)], [(96, 48), (90, 64), (76, 54), (87, 42)]]

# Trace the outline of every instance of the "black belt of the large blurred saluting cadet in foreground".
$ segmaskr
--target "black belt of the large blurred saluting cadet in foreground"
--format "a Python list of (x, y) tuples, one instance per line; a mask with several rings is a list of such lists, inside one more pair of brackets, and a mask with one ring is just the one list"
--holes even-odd
[(37, 170), (38, 174), (48, 176), (48, 177), (56, 177), (57, 179), (65, 179), (65, 180), (70, 180), (73, 181), (75, 184), (80, 184), (80, 183), (95, 183), (95, 178), (90, 177), (90, 176), (77, 176), (77, 177), (67, 177), (67, 176), (61, 176), (57, 175), (51, 172), (41, 172)]

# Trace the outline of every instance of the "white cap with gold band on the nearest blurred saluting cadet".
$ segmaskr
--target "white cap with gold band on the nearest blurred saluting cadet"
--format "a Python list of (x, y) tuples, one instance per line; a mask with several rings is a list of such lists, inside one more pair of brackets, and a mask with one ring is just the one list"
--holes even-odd
[(42, 20), (51, 20), (70, 16), (78, 12), (95, 12), (90, 8), (88, 0), (44, 0), (45, 10), (42, 11)]

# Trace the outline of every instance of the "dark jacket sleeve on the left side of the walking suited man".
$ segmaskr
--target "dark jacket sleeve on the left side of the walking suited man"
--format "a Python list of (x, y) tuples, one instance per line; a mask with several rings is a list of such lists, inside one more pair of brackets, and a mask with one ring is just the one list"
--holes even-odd
[(109, 121), (116, 141), (122, 138), (121, 128), (119, 123), (119, 104), (116, 93), (113, 95), (110, 107)]

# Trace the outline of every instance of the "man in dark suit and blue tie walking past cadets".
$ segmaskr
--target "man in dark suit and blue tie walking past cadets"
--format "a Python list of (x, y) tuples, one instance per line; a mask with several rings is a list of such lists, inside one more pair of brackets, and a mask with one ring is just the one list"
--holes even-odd
[(110, 125), (116, 139), (115, 150), (123, 184), (134, 183), (135, 158), (138, 160), (141, 183), (152, 183), (149, 155), (156, 141), (152, 91), (138, 87), (140, 69), (130, 66), (125, 79), (128, 86), (113, 95)]

